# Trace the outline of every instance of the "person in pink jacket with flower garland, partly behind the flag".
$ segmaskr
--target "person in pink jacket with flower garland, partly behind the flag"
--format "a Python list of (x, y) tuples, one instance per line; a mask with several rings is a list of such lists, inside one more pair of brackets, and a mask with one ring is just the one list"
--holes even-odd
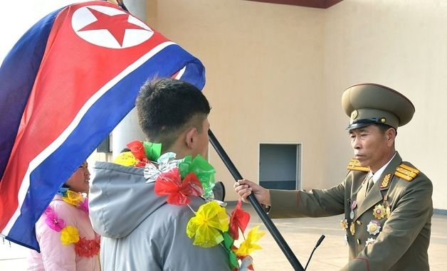
[(100, 271), (100, 238), (88, 218), (90, 172), (84, 162), (36, 223), (36, 236), (41, 253), (30, 250), (28, 270)]

